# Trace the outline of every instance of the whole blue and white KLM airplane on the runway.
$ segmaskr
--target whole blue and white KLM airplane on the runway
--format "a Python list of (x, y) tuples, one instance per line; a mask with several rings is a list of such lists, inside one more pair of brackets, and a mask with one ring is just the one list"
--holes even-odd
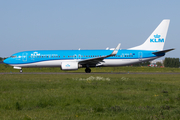
[(4, 60), (14, 69), (28, 67), (60, 67), (62, 70), (85, 68), (90, 73), (92, 67), (115, 67), (151, 61), (164, 56), (174, 49), (163, 50), (170, 20), (164, 19), (147, 40), (136, 47), (105, 50), (33, 50), (18, 52)]

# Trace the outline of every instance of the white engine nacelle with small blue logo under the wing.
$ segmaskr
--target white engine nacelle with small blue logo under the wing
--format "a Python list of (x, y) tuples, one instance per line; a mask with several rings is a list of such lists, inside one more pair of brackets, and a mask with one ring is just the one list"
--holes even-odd
[(62, 70), (77, 70), (78, 62), (62, 62), (61, 69)]

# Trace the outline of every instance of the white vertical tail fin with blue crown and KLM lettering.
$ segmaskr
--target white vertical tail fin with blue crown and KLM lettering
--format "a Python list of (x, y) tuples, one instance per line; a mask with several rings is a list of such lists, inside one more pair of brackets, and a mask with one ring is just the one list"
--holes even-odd
[(164, 19), (152, 32), (148, 39), (139, 46), (129, 48), (130, 50), (163, 50), (166, 34), (169, 27), (169, 19)]

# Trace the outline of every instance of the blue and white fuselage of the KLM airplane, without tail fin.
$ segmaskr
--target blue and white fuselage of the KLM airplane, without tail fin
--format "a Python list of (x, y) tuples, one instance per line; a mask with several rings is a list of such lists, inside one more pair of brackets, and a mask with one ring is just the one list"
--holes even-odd
[[(138, 62), (143, 62), (151, 59), (155, 59), (157, 57), (164, 56), (163, 54), (153, 54), (156, 51), (147, 51), (147, 50), (118, 50), (118, 53), (115, 56), (111, 56), (105, 58), (104, 61), (109, 60), (108, 66), (116, 65), (128, 65), (134, 64)], [(61, 62), (63, 61), (83, 61), (91, 58), (98, 58), (102, 56), (107, 56), (112, 53), (112, 50), (36, 50), (36, 51), (24, 51), (13, 54), (11, 57), (4, 60), (4, 63), (9, 64), (11, 66), (19, 66), (19, 67), (38, 67), (38, 64), (33, 63), (41, 63), (40, 67), (51, 66), (51, 61), (56, 61), (56, 64), (52, 64), (52, 67), (60, 67)], [(117, 62), (118, 60), (122, 61), (117, 64), (113, 62)], [(59, 64), (58, 64), (59, 61)], [(126, 62), (129, 61), (129, 62)], [(91, 64), (91, 63), (88, 63)], [(94, 64), (94, 63), (92, 63)], [(103, 62), (102, 66), (106, 66), (106, 63)], [(94, 65), (96, 66), (96, 65)]]

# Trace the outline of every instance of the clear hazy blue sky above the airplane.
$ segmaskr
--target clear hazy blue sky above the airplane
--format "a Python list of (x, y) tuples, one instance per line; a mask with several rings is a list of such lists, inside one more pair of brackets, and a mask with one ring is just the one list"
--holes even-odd
[(0, 57), (27, 50), (130, 48), (170, 19), (164, 49), (179, 58), (180, 0), (1, 0)]

